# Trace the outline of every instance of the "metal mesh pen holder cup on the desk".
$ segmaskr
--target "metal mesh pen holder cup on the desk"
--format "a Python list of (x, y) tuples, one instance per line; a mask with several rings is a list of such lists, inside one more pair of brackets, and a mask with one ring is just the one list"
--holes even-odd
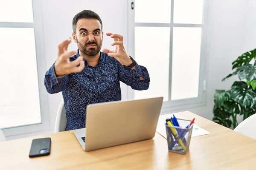
[(180, 125), (185, 126), (177, 127), (166, 125), (168, 149), (170, 152), (186, 154), (189, 150), (189, 143), (194, 123), (190, 127), (186, 128), (186, 125), (189, 125), (191, 120), (177, 120)]

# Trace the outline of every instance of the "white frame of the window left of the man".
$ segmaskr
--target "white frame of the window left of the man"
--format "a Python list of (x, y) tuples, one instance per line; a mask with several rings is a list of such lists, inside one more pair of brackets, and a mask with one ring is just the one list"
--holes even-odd
[[(45, 55), (44, 55), (44, 34), (42, 23), (41, 0), (32, 0), (33, 23), (18, 22), (0, 22), (0, 28), (34, 28), (35, 30), (35, 47), (36, 61), (38, 70), (38, 89), (40, 101), (41, 123), (5, 127), (2, 128), (5, 136), (19, 135), (23, 133), (32, 133), (37, 131), (49, 130), (49, 106), (48, 95), (44, 87), (44, 75), (46, 71)], [(15, 119), (15, 118), (14, 118)]]

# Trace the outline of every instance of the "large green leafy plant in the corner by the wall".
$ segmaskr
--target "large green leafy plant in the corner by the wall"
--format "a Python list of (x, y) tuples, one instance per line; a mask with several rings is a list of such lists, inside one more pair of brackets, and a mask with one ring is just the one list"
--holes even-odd
[(244, 120), (256, 113), (256, 49), (242, 54), (232, 65), (234, 72), (222, 81), (234, 75), (240, 81), (235, 81), (230, 90), (215, 90), (212, 119), (229, 128), (237, 126), (237, 115), (243, 115)]

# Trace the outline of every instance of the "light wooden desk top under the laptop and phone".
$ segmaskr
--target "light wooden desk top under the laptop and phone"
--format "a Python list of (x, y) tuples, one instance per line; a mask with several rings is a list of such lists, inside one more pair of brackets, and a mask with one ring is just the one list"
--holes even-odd
[[(150, 140), (85, 152), (72, 131), (0, 143), (0, 169), (255, 170), (256, 140), (190, 112), (179, 113), (211, 132), (191, 139), (186, 155), (168, 151), (158, 133)], [(51, 137), (49, 156), (29, 158), (32, 139)]]

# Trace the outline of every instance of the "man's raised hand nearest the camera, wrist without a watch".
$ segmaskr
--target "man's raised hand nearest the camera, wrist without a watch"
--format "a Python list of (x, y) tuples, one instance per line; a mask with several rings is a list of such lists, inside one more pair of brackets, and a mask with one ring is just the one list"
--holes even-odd
[(76, 54), (76, 51), (67, 51), (70, 42), (71, 38), (69, 37), (58, 45), (58, 57), (54, 64), (55, 75), (57, 77), (71, 73), (79, 73), (84, 69), (83, 57), (80, 56), (76, 60), (70, 62), (70, 57)]

